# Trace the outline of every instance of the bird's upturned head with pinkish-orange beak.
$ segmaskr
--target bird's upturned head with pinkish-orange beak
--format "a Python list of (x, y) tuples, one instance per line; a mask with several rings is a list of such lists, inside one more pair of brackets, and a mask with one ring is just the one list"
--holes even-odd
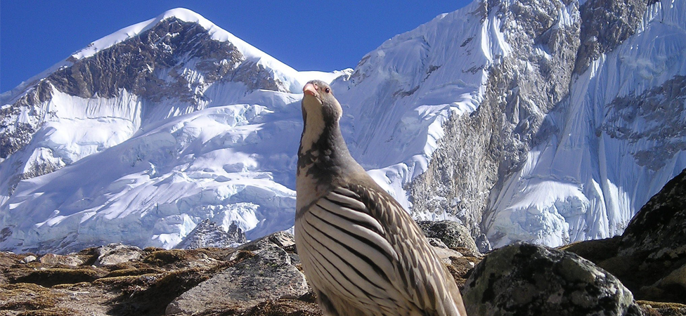
[(302, 88), (303, 117), (321, 119), (322, 124), (334, 124), (343, 115), (338, 100), (333, 96), (331, 87), (324, 81), (313, 80)]

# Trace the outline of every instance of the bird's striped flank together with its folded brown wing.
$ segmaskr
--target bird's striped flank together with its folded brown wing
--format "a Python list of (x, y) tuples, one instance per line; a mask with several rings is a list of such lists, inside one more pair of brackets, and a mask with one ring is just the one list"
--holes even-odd
[[(457, 287), (414, 220), (382, 190), (344, 185), (318, 199), (299, 220), (318, 271), (339, 294), (408, 305), (425, 315), (454, 310)], [(341, 282), (336, 282), (342, 276)], [(446, 289), (446, 282), (451, 289)], [(454, 289), (453, 289), (454, 287)], [(454, 291), (453, 291), (454, 290)], [(458, 294), (459, 296), (459, 294)], [(405, 303), (401, 303), (405, 302)], [(391, 306), (389, 306), (391, 308)], [(458, 315), (448, 312), (445, 315)]]

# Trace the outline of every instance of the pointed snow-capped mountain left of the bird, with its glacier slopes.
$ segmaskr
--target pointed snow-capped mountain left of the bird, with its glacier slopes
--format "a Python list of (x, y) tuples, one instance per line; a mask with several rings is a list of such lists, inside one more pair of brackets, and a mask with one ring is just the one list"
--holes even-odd
[[(101, 55), (164, 28), (181, 34), (162, 39), (192, 34), (198, 43), (186, 51), (177, 43), (167, 49), (183, 55), (143, 65), (162, 88), (171, 85), (153, 91), (162, 98), (127, 78), (111, 95), (60, 86), (65, 73), (111, 67)], [(209, 39), (198, 37), (203, 32)], [(150, 54), (167, 45), (153, 42), (162, 45), (144, 47)], [(249, 238), (290, 228), (302, 131), (297, 93), (311, 79), (349, 73), (297, 72), (185, 9), (94, 41), (58, 65), (10, 91), (14, 103), (4, 106), (6, 121), (36, 131), (1, 162), (2, 249), (66, 252), (109, 242), (171, 248), (206, 218), (224, 229), (235, 220)], [(217, 78), (225, 72), (231, 79)], [(98, 88), (98, 81), (84, 84), (86, 93)], [(49, 96), (34, 98), (37, 91)]]

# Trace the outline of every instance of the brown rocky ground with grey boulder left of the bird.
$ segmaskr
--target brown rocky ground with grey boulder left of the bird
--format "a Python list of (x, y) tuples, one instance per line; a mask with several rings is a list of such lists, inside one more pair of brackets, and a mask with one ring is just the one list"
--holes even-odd
[(0, 253), (0, 315), (321, 315), (292, 243), (278, 232), (238, 248)]

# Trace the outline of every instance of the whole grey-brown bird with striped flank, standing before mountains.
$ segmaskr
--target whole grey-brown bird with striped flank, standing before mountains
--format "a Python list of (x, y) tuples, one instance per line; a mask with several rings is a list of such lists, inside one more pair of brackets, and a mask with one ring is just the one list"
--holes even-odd
[(301, 105), (295, 244), (324, 314), (466, 316), (427, 237), (351, 156), (329, 84), (307, 82)]

